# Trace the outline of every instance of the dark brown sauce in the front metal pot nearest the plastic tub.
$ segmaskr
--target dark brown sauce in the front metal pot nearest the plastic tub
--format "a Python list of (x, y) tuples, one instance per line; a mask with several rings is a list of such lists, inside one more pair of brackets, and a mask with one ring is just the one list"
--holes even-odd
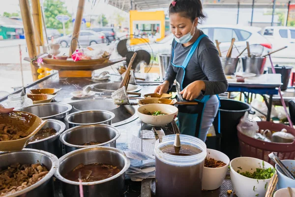
[(79, 171), (81, 172), (82, 182), (93, 182), (110, 178), (118, 174), (120, 169), (109, 164), (80, 164), (67, 173), (64, 178), (79, 182)]

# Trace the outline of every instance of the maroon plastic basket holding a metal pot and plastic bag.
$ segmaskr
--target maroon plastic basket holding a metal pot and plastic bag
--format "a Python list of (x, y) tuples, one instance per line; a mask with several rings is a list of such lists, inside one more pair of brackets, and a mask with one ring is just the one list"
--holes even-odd
[[(287, 132), (295, 135), (295, 129), (283, 124), (258, 122), (258, 126), (260, 130), (268, 129), (270, 131), (281, 131), (282, 129), (286, 129)], [(258, 158), (272, 165), (274, 165), (274, 162), (268, 157), (268, 154), (272, 152), (274, 152), (280, 160), (295, 159), (295, 141), (292, 143), (265, 142), (249, 137), (240, 131), (237, 132), (237, 137), (242, 157)]]

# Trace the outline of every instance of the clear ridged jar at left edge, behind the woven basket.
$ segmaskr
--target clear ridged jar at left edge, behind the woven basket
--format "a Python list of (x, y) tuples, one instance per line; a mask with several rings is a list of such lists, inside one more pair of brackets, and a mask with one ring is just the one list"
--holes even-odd
[(23, 107), (27, 107), (33, 104), (33, 100), (29, 99), (27, 95), (21, 96), (21, 94), (9, 95), (7, 102), (4, 104), (6, 108), (14, 107), (15, 110), (19, 110)]

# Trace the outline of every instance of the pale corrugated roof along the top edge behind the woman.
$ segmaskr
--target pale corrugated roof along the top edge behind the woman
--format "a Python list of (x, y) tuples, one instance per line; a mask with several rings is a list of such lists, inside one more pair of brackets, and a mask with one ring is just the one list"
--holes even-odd
[[(130, 9), (154, 9), (166, 8), (170, 5), (172, 0), (109, 0), (109, 4), (124, 11)], [(222, 7), (222, 8), (236, 8), (237, 2), (240, 2), (240, 8), (252, 8), (252, 0), (202, 0), (203, 6), (206, 8)], [(295, 0), (290, 0), (295, 3)], [(287, 8), (289, 0), (276, 0), (276, 8)], [(272, 8), (273, 0), (254, 0), (255, 8)]]

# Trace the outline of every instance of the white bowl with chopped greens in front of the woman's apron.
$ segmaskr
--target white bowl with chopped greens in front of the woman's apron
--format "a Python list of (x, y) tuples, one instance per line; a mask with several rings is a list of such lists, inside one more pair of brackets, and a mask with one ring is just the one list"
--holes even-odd
[[(163, 116), (152, 116), (147, 115), (147, 112), (161, 111), (167, 115)], [(178, 109), (173, 105), (168, 104), (147, 104), (140, 106), (137, 109), (138, 117), (144, 122), (151, 126), (162, 126), (171, 123), (177, 117)]]

